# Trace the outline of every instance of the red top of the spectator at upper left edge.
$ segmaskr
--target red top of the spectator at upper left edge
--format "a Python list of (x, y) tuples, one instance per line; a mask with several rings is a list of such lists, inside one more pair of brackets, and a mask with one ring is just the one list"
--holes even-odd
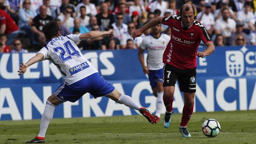
[(10, 17), (7, 12), (4, 10), (0, 9), (0, 25), (5, 24), (6, 29), (5, 29), (5, 34), (10, 34), (14, 31), (18, 31), (19, 27), (15, 23), (15, 21)]

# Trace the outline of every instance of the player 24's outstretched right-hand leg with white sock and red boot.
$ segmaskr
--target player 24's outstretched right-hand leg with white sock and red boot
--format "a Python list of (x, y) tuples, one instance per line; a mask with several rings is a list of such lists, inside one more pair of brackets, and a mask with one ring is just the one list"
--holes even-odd
[(140, 111), (142, 116), (147, 118), (149, 123), (152, 123), (152, 124), (157, 123), (157, 118), (152, 112), (147, 110), (145, 107), (142, 107), (139, 104), (137, 104), (137, 102), (135, 102), (133, 98), (129, 97), (128, 95), (121, 94), (118, 90), (115, 89), (113, 92), (111, 92), (111, 94), (107, 95), (106, 97), (111, 98), (112, 100), (114, 100), (119, 104), (124, 104), (130, 108)]

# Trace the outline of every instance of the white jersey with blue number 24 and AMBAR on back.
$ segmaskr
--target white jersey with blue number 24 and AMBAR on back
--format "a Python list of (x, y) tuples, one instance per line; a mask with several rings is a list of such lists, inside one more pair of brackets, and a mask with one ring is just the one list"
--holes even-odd
[(48, 59), (59, 68), (61, 73), (66, 76), (67, 85), (98, 72), (78, 49), (76, 45), (78, 41), (80, 41), (79, 34), (52, 38), (38, 52), (44, 55), (43, 60)]

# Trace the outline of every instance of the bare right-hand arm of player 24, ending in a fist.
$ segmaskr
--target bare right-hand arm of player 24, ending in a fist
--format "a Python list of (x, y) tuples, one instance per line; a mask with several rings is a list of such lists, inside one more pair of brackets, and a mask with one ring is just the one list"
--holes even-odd
[(113, 30), (109, 30), (109, 31), (89, 31), (88, 33), (84, 33), (81, 34), (79, 36), (80, 40), (85, 40), (85, 39), (93, 39), (93, 38), (98, 38), (100, 36), (105, 36), (105, 35), (114, 35), (114, 31)]

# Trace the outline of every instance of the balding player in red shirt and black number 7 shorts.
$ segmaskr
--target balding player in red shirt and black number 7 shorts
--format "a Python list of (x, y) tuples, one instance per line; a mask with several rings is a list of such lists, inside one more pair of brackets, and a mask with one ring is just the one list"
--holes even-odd
[[(139, 37), (148, 28), (157, 24), (164, 24), (171, 28), (171, 40), (163, 55), (164, 62), (164, 105), (166, 113), (163, 125), (168, 128), (171, 124), (173, 113), (173, 94), (176, 80), (179, 82), (180, 91), (184, 94), (184, 107), (180, 123), (180, 132), (183, 137), (191, 137), (187, 130), (194, 108), (194, 95), (196, 92), (197, 57), (205, 57), (214, 52), (206, 28), (201, 23), (194, 21), (194, 7), (185, 4), (180, 7), (180, 16), (158, 17), (149, 21), (145, 26), (133, 33), (133, 38)], [(201, 40), (206, 49), (198, 52)]]

